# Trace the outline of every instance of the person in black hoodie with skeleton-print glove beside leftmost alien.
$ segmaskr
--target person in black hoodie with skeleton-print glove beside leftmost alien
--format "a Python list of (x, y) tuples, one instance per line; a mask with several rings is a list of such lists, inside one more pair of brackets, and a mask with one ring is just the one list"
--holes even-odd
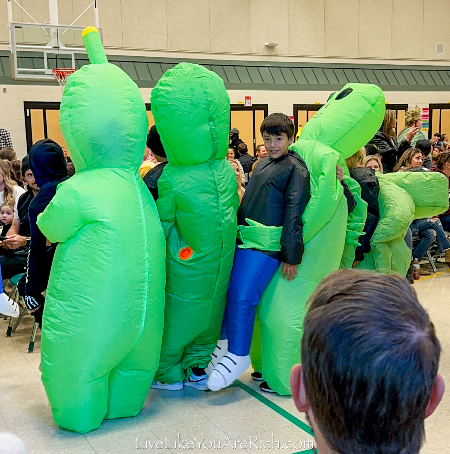
[(56, 244), (47, 246), (47, 239), (37, 227), (36, 221), (38, 214), (45, 210), (56, 194), (58, 184), (67, 179), (61, 147), (51, 139), (36, 142), (30, 149), (30, 168), (40, 191), (28, 209), (31, 243), (26, 271), (25, 304), (30, 311), (34, 311), (35, 320), (41, 327), (45, 300), (42, 292), (47, 288)]

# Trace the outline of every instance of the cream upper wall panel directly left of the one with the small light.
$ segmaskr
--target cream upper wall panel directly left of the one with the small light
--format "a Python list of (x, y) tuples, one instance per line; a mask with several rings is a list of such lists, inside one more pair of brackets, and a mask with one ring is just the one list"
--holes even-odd
[(250, 54), (250, 0), (210, 0), (210, 36), (211, 52)]

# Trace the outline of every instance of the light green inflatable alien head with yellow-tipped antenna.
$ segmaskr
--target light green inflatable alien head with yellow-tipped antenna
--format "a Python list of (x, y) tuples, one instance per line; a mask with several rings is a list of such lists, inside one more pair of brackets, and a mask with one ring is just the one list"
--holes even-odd
[(137, 85), (108, 63), (98, 30), (83, 30), (91, 64), (69, 76), (60, 106), (60, 127), (77, 172), (85, 168), (137, 170), (148, 120)]

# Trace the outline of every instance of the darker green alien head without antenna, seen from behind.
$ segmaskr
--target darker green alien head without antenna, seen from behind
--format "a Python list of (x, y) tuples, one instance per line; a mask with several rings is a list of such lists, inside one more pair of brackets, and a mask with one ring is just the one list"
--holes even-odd
[(151, 111), (171, 165), (225, 158), (230, 98), (217, 74), (198, 64), (177, 64), (152, 90)]

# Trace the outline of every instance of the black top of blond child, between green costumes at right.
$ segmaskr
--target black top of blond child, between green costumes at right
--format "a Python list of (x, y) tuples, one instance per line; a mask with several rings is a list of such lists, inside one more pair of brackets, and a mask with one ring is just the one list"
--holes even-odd
[(350, 170), (350, 177), (356, 180), (361, 187), (361, 198), (367, 202), (367, 219), (364, 225), (365, 235), (359, 238), (361, 246), (355, 250), (355, 261), (364, 260), (364, 254), (370, 251), (370, 239), (380, 219), (378, 194), (380, 184), (376, 178), (375, 170), (370, 167), (356, 167)]

